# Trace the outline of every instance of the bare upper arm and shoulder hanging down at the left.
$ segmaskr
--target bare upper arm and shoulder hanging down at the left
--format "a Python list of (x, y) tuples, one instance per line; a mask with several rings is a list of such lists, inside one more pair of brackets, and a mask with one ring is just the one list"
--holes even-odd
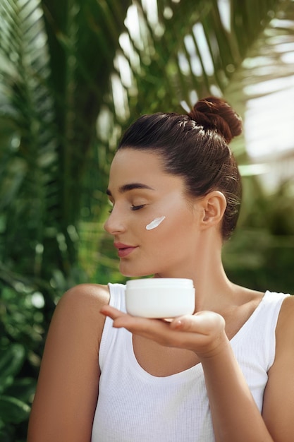
[(49, 328), (27, 442), (90, 442), (99, 382), (101, 306), (108, 289), (79, 285), (59, 301)]

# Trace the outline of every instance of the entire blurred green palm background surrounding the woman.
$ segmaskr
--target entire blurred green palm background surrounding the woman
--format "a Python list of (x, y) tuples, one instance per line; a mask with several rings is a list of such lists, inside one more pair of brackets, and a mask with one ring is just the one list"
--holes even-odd
[(61, 294), (124, 281), (105, 189), (140, 114), (231, 103), (244, 201), (226, 271), (294, 292), (293, 73), (293, 0), (0, 1), (1, 442), (25, 441)]

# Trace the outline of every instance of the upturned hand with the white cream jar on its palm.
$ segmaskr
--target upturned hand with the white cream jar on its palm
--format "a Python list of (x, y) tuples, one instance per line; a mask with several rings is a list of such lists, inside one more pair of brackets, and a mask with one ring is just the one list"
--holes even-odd
[(200, 360), (219, 354), (228, 342), (225, 321), (213, 311), (179, 316), (171, 322), (131, 316), (111, 306), (104, 306), (101, 313), (113, 319), (116, 328), (124, 327), (135, 335), (154, 340), (165, 347), (192, 350)]

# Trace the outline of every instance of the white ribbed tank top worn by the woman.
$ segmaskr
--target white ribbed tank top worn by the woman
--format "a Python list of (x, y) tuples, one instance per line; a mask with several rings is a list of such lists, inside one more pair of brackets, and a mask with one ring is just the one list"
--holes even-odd
[[(110, 304), (125, 311), (125, 286), (109, 284)], [(266, 292), (231, 345), (262, 411), (267, 371), (275, 357), (275, 329), (283, 299)], [(101, 377), (92, 442), (213, 442), (202, 364), (166, 377), (138, 364), (132, 334), (106, 318), (99, 351)], [(234, 406), (232, 404), (232, 406)]]

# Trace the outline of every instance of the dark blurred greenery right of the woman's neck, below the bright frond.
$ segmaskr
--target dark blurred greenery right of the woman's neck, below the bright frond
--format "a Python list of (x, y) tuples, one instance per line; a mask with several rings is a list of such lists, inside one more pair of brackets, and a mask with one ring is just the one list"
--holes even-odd
[(250, 204), (243, 207), (238, 228), (223, 251), (228, 276), (261, 291), (294, 294), (293, 184), (287, 181), (268, 194), (255, 180), (244, 179), (244, 193)]

